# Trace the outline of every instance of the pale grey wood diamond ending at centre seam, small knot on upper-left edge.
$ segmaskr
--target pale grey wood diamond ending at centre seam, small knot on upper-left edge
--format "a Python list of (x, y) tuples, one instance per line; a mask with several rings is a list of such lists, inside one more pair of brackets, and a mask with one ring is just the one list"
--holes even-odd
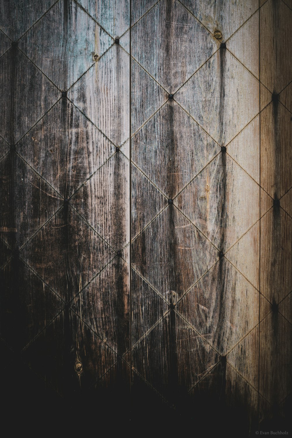
[(128, 54), (114, 44), (68, 92), (74, 105), (116, 146), (130, 132), (129, 62)]

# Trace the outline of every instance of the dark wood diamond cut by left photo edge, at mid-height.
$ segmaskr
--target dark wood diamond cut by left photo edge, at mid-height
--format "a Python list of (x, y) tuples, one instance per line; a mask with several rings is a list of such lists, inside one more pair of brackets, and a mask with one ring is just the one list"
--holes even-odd
[(0, 161), (2, 239), (14, 251), (62, 206), (57, 192), (12, 150)]

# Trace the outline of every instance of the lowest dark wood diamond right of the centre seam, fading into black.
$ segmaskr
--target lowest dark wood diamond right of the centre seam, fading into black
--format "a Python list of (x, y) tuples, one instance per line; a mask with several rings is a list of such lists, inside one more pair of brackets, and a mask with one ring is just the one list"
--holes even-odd
[(134, 346), (132, 357), (135, 370), (171, 404), (218, 362), (215, 350), (174, 309)]

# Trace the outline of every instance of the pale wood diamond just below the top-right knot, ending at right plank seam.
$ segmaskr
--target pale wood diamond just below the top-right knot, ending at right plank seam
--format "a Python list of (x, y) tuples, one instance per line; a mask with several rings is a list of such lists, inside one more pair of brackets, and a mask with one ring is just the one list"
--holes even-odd
[(258, 95), (257, 79), (221, 46), (175, 99), (225, 146), (257, 115)]

